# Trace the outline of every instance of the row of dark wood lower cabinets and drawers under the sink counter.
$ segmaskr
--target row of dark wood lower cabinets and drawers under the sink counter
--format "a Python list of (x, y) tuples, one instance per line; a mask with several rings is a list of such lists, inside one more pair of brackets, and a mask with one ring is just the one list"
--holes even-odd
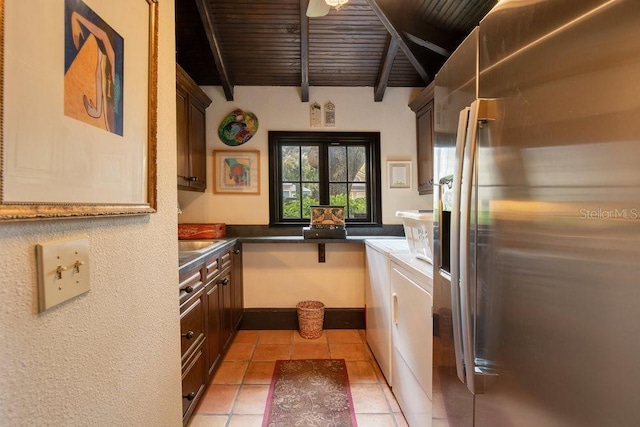
[(237, 244), (214, 253), (180, 275), (184, 425), (213, 379), (242, 319), (240, 249)]

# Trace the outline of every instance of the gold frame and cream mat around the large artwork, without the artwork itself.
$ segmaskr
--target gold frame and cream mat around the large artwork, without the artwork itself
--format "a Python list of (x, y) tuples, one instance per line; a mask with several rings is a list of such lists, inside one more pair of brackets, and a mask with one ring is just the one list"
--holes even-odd
[[(122, 2), (122, 7), (118, 1)], [(47, 2), (44, 12), (24, 13), (20, 8), (24, 8), (26, 2), (0, 0), (0, 221), (156, 212), (159, 0), (136, 1), (139, 3), (133, 4), (130, 0), (98, 3), (103, 9), (88, 9), (95, 19), (102, 19), (103, 14), (108, 16), (108, 25), (119, 34), (123, 33), (127, 46), (122, 54), (126, 67), (120, 64), (123, 74), (126, 71), (126, 78), (119, 86), (124, 98), (124, 108), (119, 111), (124, 131), (116, 134), (87, 126), (63, 112), (63, 106), (66, 109), (64, 85), (58, 70), (65, 61), (68, 38), (61, 40), (59, 34), (65, 33), (66, 19), (63, 22), (60, 17), (67, 17), (65, 7), (68, 3), (55, 0)], [(88, 8), (84, 4), (82, 6)], [(129, 16), (115, 13), (118, 8), (126, 8)], [(20, 16), (32, 15), (35, 15), (33, 21), (20, 22)], [(145, 25), (132, 25), (132, 21), (140, 20), (144, 20)], [(40, 31), (55, 30), (53, 34), (38, 34), (43, 43), (51, 43), (48, 54), (38, 53), (40, 51), (36, 49), (41, 45), (34, 43), (33, 38), (20, 40), (25, 26)], [(18, 27), (21, 29), (20, 37), (16, 35)], [(80, 38), (83, 40), (93, 35), (87, 28), (87, 25), (82, 27)], [(141, 54), (144, 51), (146, 55)], [(38, 59), (42, 66), (37, 71), (42, 77), (36, 81), (21, 77), (23, 73), (35, 74), (29, 61), (35, 63), (33, 58), (37, 56), (45, 57)], [(23, 57), (28, 60), (21, 61)], [(27, 64), (22, 65), (22, 62)], [(112, 76), (113, 73), (108, 75), (109, 78)], [(138, 92), (141, 87), (147, 88), (146, 100)], [(15, 88), (20, 95), (53, 99), (47, 107), (41, 108), (46, 114), (39, 114), (39, 111), (25, 113), (26, 109), (16, 106)], [(10, 110), (5, 108), (7, 105), (11, 106)], [(86, 105), (95, 107), (91, 100), (85, 100)], [(107, 113), (104, 114), (106, 116)], [(78, 129), (81, 132), (76, 132)], [(34, 147), (38, 149), (34, 150)], [(96, 147), (105, 148), (100, 151)], [(129, 156), (131, 151), (135, 156)], [(41, 168), (42, 165), (49, 169)]]

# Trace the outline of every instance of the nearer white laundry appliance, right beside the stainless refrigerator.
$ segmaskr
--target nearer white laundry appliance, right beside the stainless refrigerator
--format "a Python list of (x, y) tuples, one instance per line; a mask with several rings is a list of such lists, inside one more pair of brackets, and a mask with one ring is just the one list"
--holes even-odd
[(391, 255), (393, 394), (409, 426), (432, 418), (433, 264), (412, 254)]

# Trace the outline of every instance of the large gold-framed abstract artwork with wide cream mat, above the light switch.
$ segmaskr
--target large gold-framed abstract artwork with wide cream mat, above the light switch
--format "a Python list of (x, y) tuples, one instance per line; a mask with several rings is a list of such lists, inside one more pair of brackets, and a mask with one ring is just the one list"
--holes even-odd
[(0, 0), (0, 220), (155, 212), (158, 0), (46, 3)]

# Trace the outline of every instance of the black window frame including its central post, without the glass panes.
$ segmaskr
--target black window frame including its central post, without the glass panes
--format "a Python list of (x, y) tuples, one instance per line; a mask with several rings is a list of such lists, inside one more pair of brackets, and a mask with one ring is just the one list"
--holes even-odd
[[(352, 226), (382, 226), (382, 181), (380, 167), (380, 132), (296, 132), (269, 131), (269, 226), (308, 226), (309, 219), (283, 218), (282, 215), (282, 158), (283, 145), (321, 145), (319, 164), (326, 167), (326, 153), (331, 145), (365, 146), (367, 147), (367, 201), (369, 215), (366, 219), (346, 218), (348, 227)], [(326, 186), (322, 191), (322, 187)], [(321, 180), (321, 197), (327, 197), (328, 180)], [(324, 193), (324, 196), (322, 195)], [(348, 214), (345, 212), (345, 217)]]

